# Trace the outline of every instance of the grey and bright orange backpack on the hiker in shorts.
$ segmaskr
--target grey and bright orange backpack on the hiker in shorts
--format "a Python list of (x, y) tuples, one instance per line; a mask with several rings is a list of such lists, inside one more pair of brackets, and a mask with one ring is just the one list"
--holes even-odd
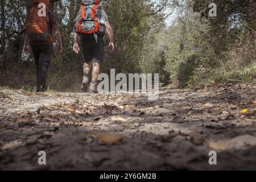
[(77, 34), (94, 34), (97, 42), (97, 34), (102, 34), (101, 0), (81, 0), (79, 13), (75, 20), (75, 31)]

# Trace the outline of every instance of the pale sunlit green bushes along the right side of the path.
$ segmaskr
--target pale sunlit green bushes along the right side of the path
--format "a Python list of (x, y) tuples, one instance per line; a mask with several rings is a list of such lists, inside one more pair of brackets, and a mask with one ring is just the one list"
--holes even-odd
[[(176, 22), (168, 31), (161, 33), (166, 39), (163, 42), (166, 48), (165, 69), (172, 86), (203, 86), (212, 81), (253, 79), (256, 74), (255, 29), (246, 26), (238, 28), (234, 22), (230, 26), (230, 16), (236, 14), (239, 7), (229, 7), (232, 3), (228, 1), (218, 2), (219, 16), (223, 13), (221, 11), (229, 11), (223, 13), (228, 19), (225, 22), (223, 16), (216, 19), (208, 17), (210, 1), (193, 1), (193, 6), (191, 2), (188, 0), (182, 5)], [(221, 8), (223, 3), (224, 9)], [(248, 9), (245, 5), (241, 4), (240, 12), (246, 13)], [(242, 21), (242, 24), (251, 22), (251, 19)]]

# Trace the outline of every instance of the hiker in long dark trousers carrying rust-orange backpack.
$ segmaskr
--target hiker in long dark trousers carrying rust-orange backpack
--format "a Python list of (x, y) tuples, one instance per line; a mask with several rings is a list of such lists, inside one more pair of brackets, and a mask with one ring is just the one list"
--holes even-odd
[(61, 35), (57, 27), (56, 18), (49, 10), (49, 0), (32, 0), (32, 7), (26, 20), (26, 34), (24, 52), (30, 52), (28, 42), (32, 49), (36, 65), (36, 92), (45, 92), (47, 69), (54, 57), (52, 49), (53, 32), (59, 43), (59, 52), (63, 51)]

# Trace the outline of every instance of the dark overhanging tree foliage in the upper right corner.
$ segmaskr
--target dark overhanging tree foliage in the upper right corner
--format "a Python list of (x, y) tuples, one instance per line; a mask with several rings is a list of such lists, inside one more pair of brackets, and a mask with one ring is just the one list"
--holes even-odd
[[(254, 34), (256, 24), (256, 1), (254, 0), (193, 0), (193, 10), (200, 13), (201, 18), (209, 20), (212, 37), (210, 43), (216, 53), (226, 51), (229, 44), (234, 44), (246, 30)], [(217, 16), (209, 17), (209, 3), (216, 3)]]

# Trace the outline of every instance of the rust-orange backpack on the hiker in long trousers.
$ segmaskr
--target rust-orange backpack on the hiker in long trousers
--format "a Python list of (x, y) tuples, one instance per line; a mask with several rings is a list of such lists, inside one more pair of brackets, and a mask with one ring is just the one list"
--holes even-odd
[[(45, 15), (40, 14), (44, 11), (44, 6), (40, 6), (44, 3)], [(30, 37), (31, 41), (46, 41), (49, 38), (49, 26), (48, 26), (48, 10), (49, 0), (32, 0), (32, 7), (27, 15), (26, 20), (26, 33)]]

